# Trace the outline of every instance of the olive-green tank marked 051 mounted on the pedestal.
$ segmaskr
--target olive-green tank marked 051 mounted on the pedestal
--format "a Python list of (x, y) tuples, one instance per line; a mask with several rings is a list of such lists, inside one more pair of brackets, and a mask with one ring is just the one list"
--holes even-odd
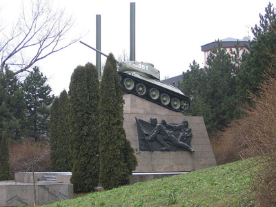
[[(88, 46), (86, 43), (83, 44)], [(91, 46), (88, 47), (107, 57), (103, 52)], [(132, 93), (170, 110), (182, 111), (190, 108), (190, 99), (179, 88), (160, 81), (160, 72), (154, 68), (152, 63), (139, 61), (118, 61), (117, 63), (121, 85), (125, 92)]]

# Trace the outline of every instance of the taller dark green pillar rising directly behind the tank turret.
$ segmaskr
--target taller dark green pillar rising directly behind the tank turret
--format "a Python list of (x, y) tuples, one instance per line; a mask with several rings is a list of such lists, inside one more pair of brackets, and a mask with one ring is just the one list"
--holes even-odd
[(135, 61), (135, 2), (130, 2), (130, 61)]

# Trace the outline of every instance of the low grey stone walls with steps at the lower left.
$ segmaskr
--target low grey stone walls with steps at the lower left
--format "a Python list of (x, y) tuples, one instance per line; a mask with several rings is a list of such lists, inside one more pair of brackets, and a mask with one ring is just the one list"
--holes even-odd
[[(43, 177), (55, 175), (55, 181)], [(52, 176), (50, 176), (52, 177)], [(51, 204), (62, 199), (73, 199), (70, 172), (34, 172), (37, 204)], [(34, 204), (32, 172), (16, 172), (14, 182), (0, 182), (0, 206), (31, 206)]]

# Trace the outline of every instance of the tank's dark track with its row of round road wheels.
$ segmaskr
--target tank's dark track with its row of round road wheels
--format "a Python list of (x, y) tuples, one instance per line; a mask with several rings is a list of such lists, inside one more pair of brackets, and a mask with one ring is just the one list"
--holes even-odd
[[(124, 92), (131, 93), (177, 112), (188, 110), (188, 108), (190, 108), (190, 99), (186, 97), (178, 88), (170, 86), (159, 80), (155, 80), (156, 84), (152, 83), (152, 81), (147, 81), (148, 78), (146, 77), (139, 78), (139, 75), (137, 74), (131, 75), (125, 72), (118, 73)], [(162, 87), (162, 84), (167, 86), (167, 88)], [(169, 90), (168, 86), (172, 88), (172, 90)]]

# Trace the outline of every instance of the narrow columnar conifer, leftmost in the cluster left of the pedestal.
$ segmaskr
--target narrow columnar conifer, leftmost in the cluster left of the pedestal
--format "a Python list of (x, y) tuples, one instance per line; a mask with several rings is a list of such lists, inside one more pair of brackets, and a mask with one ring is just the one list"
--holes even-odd
[(57, 141), (59, 139), (59, 117), (59, 98), (56, 97), (54, 101), (52, 101), (50, 115), (50, 169), (54, 172), (58, 171), (57, 159), (59, 155), (57, 151)]

